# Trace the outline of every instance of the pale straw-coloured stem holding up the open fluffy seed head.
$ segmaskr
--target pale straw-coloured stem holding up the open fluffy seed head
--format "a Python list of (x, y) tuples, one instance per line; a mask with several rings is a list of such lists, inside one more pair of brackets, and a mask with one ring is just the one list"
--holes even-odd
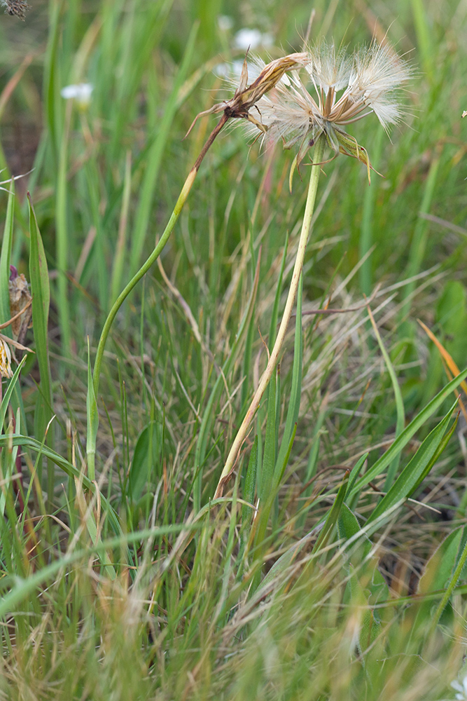
[(272, 378), (272, 374), (276, 369), (277, 362), (279, 360), (279, 355), (281, 353), (282, 346), (284, 345), (284, 339), (286, 336), (288, 322), (291, 319), (293, 305), (295, 304), (298, 283), (300, 281), (300, 275), (302, 273), (303, 268), (303, 261), (305, 260), (305, 252), (307, 250), (309, 227), (312, 223), (314, 202), (316, 200), (316, 190), (318, 189), (319, 172), (321, 168), (321, 162), (323, 160), (324, 144), (325, 139), (321, 135), (316, 141), (314, 147), (312, 172), (309, 177), (307, 204), (305, 206), (305, 215), (303, 217), (302, 231), (300, 232), (300, 240), (298, 242), (297, 257), (295, 258), (291, 285), (288, 289), (286, 306), (284, 308), (284, 315), (282, 316), (281, 325), (279, 326), (279, 331), (277, 332), (277, 338), (274, 343), (274, 348), (272, 348), (270, 358), (267, 362), (267, 367), (265, 369), (265, 372), (263, 372), (263, 376), (260, 379), (258, 389), (256, 390), (256, 393), (253, 399), (251, 400), (251, 404), (248, 408), (248, 411), (246, 411), (245, 418), (242, 421), (242, 426), (240, 426), (237, 435), (235, 436), (235, 440), (232, 443), (232, 447), (230, 448), (230, 452), (227, 456), (227, 460), (225, 461), (221, 478), (219, 479), (217, 485), (216, 494), (214, 496), (215, 499), (223, 495), (224, 486), (230, 479), (230, 475), (232, 475), (232, 472), (235, 468), (235, 463), (237, 462), (237, 456), (246, 438), (246, 434), (248, 433), (250, 423), (253, 419), (253, 416), (256, 414), (256, 410), (259, 407), (261, 397), (263, 397), (265, 389), (267, 388), (267, 385), (269, 384), (270, 379)]

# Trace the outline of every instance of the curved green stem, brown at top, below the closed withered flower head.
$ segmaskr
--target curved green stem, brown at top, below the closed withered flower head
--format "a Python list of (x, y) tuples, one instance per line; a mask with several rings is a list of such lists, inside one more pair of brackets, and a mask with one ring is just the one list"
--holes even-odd
[(177, 219), (179, 219), (180, 212), (183, 209), (183, 205), (186, 203), (186, 200), (188, 198), (188, 194), (190, 193), (190, 190), (193, 186), (193, 183), (195, 182), (195, 178), (197, 176), (198, 170), (200, 170), (200, 165), (203, 161), (203, 158), (204, 158), (204, 156), (206, 156), (207, 152), (211, 148), (212, 144), (214, 143), (214, 139), (216, 139), (216, 136), (218, 135), (218, 133), (221, 131), (221, 129), (223, 128), (225, 123), (228, 121), (228, 118), (229, 118), (229, 116), (224, 113), (221, 116), (221, 119), (218, 121), (217, 125), (211, 131), (211, 134), (207, 138), (207, 142), (202, 147), (200, 155), (197, 157), (197, 159), (195, 161), (195, 165), (193, 165), (193, 168), (188, 173), (188, 177), (187, 177), (185, 183), (183, 184), (183, 187), (181, 189), (181, 193), (179, 194), (178, 200), (176, 200), (176, 205), (174, 207), (174, 211), (172, 212), (172, 215), (170, 215), (170, 219), (169, 219), (169, 222), (167, 223), (167, 226), (165, 227), (164, 233), (162, 233), (162, 236), (158, 240), (158, 243), (155, 245), (155, 248), (154, 248), (153, 252), (151, 253), (151, 255), (148, 257), (146, 262), (141, 266), (141, 268), (139, 268), (139, 271), (132, 277), (132, 279), (126, 285), (124, 290), (122, 290), (122, 292), (120, 292), (116, 301), (112, 305), (111, 311), (109, 311), (109, 315), (107, 316), (105, 323), (104, 323), (104, 327), (102, 328), (101, 337), (99, 339), (99, 345), (97, 346), (96, 359), (95, 359), (95, 363), (94, 363), (94, 372), (92, 374), (92, 383), (94, 385), (94, 392), (95, 392), (96, 397), (97, 397), (97, 390), (99, 389), (99, 378), (100, 378), (100, 374), (101, 374), (102, 358), (104, 357), (104, 348), (106, 345), (107, 338), (109, 336), (111, 326), (113, 324), (113, 320), (116, 318), (118, 310), (122, 306), (125, 299), (127, 299), (130, 292), (137, 285), (137, 283), (139, 283), (139, 280), (141, 280), (143, 275), (146, 275), (149, 268), (151, 268), (151, 266), (155, 263), (155, 261), (160, 256), (163, 248), (165, 247), (165, 244), (169, 240), (170, 234), (174, 230), (174, 226), (176, 224)]

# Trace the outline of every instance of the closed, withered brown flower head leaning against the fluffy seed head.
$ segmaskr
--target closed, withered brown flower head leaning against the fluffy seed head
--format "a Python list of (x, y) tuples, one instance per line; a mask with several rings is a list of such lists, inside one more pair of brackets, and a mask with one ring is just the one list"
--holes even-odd
[[(225, 120), (227, 119), (247, 119), (260, 130), (265, 132), (267, 128), (263, 125), (262, 121), (258, 121), (256, 117), (250, 114), (252, 107), (261, 100), (261, 97), (268, 93), (277, 83), (281, 80), (282, 76), (286, 71), (291, 71), (305, 65), (307, 61), (307, 53), (292, 53), (281, 58), (277, 58), (271, 61), (263, 67), (260, 71), (258, 77), (248, 85), (248, 65), (246, 63), (246, 56), (243, 62), (242, 74), (240, 76), (239, 86), (235, 90), (235, 95), (231, 100), (225, 100), (220, 104), (215, 104), (211, 109), (207, 109), (204, 112), (197, 114), (193, 120), (192, 125), (188, 129), (187, 136), (193, 129), (198, 118), (205, 114), (216, 114), (218, 112), (223, 112)], [(258, 115), (260, 112), (258, 111)]]

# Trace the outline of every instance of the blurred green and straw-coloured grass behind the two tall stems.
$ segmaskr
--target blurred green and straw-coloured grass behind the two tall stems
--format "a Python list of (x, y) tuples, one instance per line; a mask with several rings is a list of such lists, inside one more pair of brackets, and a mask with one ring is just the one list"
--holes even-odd
[[(295, 354), (292, 327), (214, 506), (284, 303), (307, 167), (291, 194), (290, 152), (261, 152), (240, 128), (217, 139), (160, 266), (113, 325), (95, 484), (87, 339), (92, 367), (215, 117), (183, 135), (228, 95), (216, 66), (242, 60), (236, 32), (271, 34), (263, 57), (300, 50), (309, 4), (36, 0), (25, 23), (0, 16), (0, 165), (5, 179), (34, 167), (9, 210), (1, 193), (2, 253), (11, 236), (36, 304), (36, 356), (2, 405), (2, 698), (454, 697), (465, 419), (449, 423), (452, 393), (432, 402), (447, 378), (417, 318), (465, 367), (467, 10), (314, 8), (313, 39), (353, 48), (388, 32), (414, 65), (410, 114), (391, 142), (376, 119), (352, 130), (384, 174), (370, 188), (349, 158), (323, 168)], [(60, 96), (79, 82), (94, 86), (88, 109)], [(347, 311), (314, 313), (324, 306)]]

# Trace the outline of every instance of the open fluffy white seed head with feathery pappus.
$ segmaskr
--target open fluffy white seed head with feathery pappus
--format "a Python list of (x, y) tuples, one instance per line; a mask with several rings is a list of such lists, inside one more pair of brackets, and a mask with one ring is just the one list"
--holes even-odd
[(257, 104), (260, 130), (281, 139), (286, 148), (298, 144), (298, 165), (309, 147), (324, 135), (335, 154), (358, 158), (369, 175), (367, 152), (344, 127), (372, 112), (385, 130), (400, 121), (396, 90), (410, 78), (410, 67), (391, 48), (375, 42), (353, 56), (322, 42), (309, 50), (305, 70), (314, 94), (298, 74), (282, 76), (275, 89)]

